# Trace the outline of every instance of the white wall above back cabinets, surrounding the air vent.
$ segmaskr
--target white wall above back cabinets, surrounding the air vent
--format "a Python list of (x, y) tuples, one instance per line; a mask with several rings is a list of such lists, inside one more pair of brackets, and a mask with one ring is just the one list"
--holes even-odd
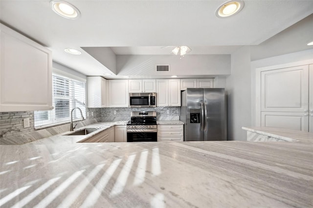
[[(229, 75), (230, 55), (117, 55), (117, 75), (157, 76)], [(170, 64), (170, 72), (156, 72), (156, 64)], [(200, 76), (201, 77), (201, 76)], [(180, 77), (181, 78), (181, 77)]]

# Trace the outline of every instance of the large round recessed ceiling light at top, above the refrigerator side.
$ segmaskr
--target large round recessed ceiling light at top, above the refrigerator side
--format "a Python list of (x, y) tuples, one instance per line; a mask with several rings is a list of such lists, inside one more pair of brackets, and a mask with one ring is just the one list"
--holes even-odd
[(223, 3), (217, 8), (215, 15), (219, 18), (227, 18), (237, 14), (244, 7), (244, 1), (242, 0), (229, 0)]

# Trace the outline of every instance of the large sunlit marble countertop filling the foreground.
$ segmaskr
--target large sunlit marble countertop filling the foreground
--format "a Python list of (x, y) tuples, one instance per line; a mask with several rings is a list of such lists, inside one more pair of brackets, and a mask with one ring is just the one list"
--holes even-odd
[(0, 207), (313, 207), (313, 146), (301, 142), (0, 146)]

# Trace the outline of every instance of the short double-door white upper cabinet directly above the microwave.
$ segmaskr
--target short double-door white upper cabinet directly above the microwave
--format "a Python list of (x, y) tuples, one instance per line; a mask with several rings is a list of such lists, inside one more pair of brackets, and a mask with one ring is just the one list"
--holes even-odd
[(156, 92), (156, 80), (129, 80), (129, 92)]

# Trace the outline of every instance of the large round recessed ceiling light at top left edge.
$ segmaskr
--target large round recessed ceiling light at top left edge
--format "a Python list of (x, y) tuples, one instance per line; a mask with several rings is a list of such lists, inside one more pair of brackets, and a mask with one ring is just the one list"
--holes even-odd
[(79, 10), (70, 3), (63, 0), (51, 0), (50, 6), (52, 10), (58, 15), (67, 19), (77, 19), (80, 17)]

